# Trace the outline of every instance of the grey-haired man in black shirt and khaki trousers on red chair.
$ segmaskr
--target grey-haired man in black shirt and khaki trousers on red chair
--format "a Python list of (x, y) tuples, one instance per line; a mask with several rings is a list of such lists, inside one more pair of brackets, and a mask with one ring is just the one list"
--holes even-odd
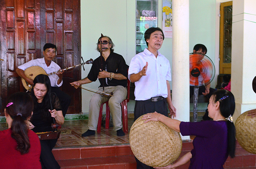
[(117, 131), (117, 136), (124, 136), (120, 103), (126, 99), (127, 95), (127, 65), (123, 56), (114, 53), (114, 43), (109, 36), (99, 38), (97, 51), (100, 52), (100, 50), (102, 50), (102, 57), (99, 56), (94, 60), (88, 76), (82, 80), (70, 83), (77, 89), (82, 84), (91, 83), (99, 79), (99, 91), (103, 91), (104, 86), (105, 93), (113, 92), (113, 96), (110, 98), (102, 97), (97, 93), (92, 96), (89, 104), (89, 129), (82, 136), (86, 137), (95, 134), (99, 119), (100, 104), (107, 100), (109, 100), (114, 131)]

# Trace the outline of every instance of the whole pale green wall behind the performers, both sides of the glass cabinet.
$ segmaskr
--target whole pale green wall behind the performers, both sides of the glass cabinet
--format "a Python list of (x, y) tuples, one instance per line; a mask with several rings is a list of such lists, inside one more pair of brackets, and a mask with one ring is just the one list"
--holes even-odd
[[(218, 1), (218, 0), (217, 0)], [(158, 0), (158, 25), (162, 27), (162, 0)], [(207, 47), (207, 56), (215, 63), (216, 56), (216, 0), (190, 0), (189, 50), (192, 52), (197, 43)], [(81, 42), (84, 60), (95, 59), (99, 52), (95, 50), (100, 33), (110, 36), (115, 44), (115, 52), (122, 55), (130, 64), (136, 54), (136, 1), (135, 0), (81, 0)], [(172, 39), (166, 38), (159, 50), (172, 65)], [(82, 78), (89, 73), (91, 65), (85, 65)], [(216, 68), (218, 70), (218, 68)], [(171, 83), (170, 83), (171, 85)], [(212, 82), (212, 87), (216, 83)], [(86, 87), (97, 89), (99, 81)], [(171, 85), (172, 86), (172, 85)], [(172, 87), (171, 87), (172, 88)], [(88, 113), (89, 101), (93, 93), (82, 90), (82, 112)], [(133, 111), (134, 101), (128, 104)]]

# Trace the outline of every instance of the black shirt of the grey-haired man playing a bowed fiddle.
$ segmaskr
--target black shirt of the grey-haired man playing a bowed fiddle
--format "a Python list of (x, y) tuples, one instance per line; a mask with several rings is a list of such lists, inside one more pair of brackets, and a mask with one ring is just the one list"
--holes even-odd
[[(122, 55), (119, 55), (114, 52), (110, 52), (109, 57), (105, 61), (104, 58), (102, 58), (103, 62), (103, 69), (107, 72), (112, 72), (112, 73), (120, 73), (124, 75), (126, 78), (128, 77), (128, 72), (127, 72), (127, 66), (125, 63), (125, 60)], [(101, 69), (101, 59), (100, 56), (94, 60), (92, 64), (92, 68), (90, 69), (90, 72), (87, 76), (87, 78), (90, 81), (96, 81)], [(127, 80), (116, 80), (112, 79), (109, 80), (109, 78), (100, 78), (100, 87), (102, 87), (102, 83), (104, 83), (104, 87), (106, 86), (127, 86)]]

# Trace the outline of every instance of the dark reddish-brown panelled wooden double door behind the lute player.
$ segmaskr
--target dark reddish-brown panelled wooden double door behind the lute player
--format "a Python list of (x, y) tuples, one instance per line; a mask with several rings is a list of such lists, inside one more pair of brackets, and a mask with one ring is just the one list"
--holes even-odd
[[(80, 0), (0, 0), (0, 16), (3, 108), (10, 94), (25, 91), (15, 69), (42, 58), (45, 43), (57, 46), (54, 61), (61, 68), (81, 63)], [(64, 73), (61, 89), (72, 97), (67, 114), (81, 112), (81, 90), (69, 84), (80, 78), (80, 66)]]

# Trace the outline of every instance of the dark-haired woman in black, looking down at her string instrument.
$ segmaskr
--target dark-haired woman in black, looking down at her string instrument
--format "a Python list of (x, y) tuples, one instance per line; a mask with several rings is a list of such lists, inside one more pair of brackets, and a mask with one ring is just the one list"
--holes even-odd
[[(31, 96), (34, 101), (33, 115), (28, 122), (29, 129), (34, 132), (54, 131), (52, 123), (64, 123), (60, 101), (51, 93), (51, 83), (47, 75), (37, 75), (33, 81)], [(51, 108), (52, 107), (52, 108)], [(40, 140), (42, 147), (40, 161), (42, 169), (60, 169), (58, 162), (52, 154), (57, 139)]]

